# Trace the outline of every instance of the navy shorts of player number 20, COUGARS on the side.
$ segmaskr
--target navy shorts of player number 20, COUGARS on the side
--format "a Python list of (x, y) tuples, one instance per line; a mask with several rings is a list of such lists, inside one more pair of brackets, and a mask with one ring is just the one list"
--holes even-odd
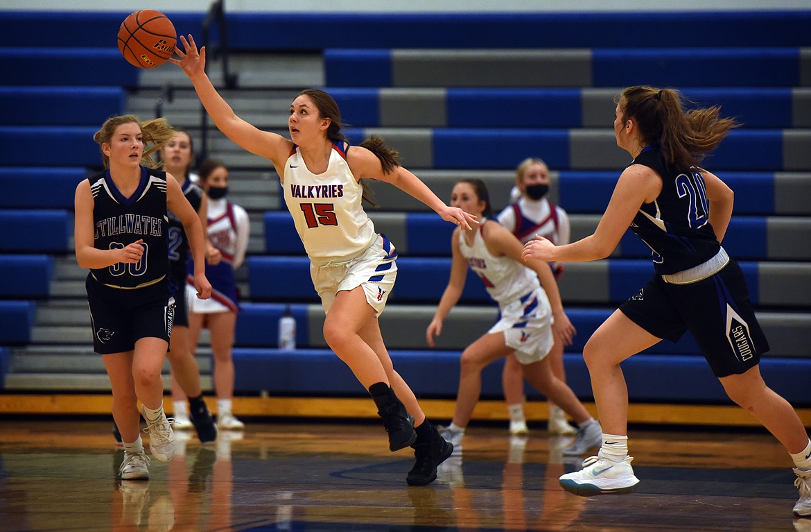
[(744, 373), (769, 350), (735, 260), (689, 285), (672, 285), (656, 275), (620, 311), (655, 337), (675, 342), (692, 332), (717, 377)]

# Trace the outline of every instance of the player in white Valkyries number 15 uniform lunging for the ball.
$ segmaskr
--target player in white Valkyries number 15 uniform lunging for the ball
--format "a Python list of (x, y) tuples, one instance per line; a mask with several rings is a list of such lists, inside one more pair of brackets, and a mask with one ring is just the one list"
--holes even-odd
[[(200, 101), (225, 136), (272, 161), (285, 203), (311, 260), (311, 277), (326, 311), (324, 339), (363, 384), (383, 418), (392, 451), (414, 448), (411, 485), (436, 479), (436, 466), (453, 452), (428, 423), (414, 393), (394, 370), (378, 317), (397, 276), (397, 250), (375, 232), (363, 210), (363, 179), (393, 184), (431, 207), (445, 221), (470, 229), (475, 217), (448, 207), (425, 183), (397, 162), (381, 139), (351, 147), (341, 132), (341, 113), (326, 92), (308, 89), (290, 105), (290, 140), (262, 131), (234, 114), (204, 70), (205, 48), (181, 36), (181, 66)], [(413, 419), (413, 426), (412, 426)]]

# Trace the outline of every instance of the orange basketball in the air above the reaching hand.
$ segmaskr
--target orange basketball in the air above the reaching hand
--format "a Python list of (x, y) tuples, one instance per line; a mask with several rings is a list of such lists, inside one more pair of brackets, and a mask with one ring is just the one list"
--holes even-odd
[(152, 9), (135, 11), (118, 28), (118, 49), (139, 68), (161, 66), (174, 54), (177, 41), (178, 34), (169, 17)]

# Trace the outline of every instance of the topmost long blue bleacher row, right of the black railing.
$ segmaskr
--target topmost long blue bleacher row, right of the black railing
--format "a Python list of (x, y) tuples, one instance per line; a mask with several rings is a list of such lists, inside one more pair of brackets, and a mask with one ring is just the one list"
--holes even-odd
[[(174, 19), (174, 16), (173, 16)], [(242, 49), (808, 46), (807, 11), (363, 14), (233, 13)], [(301, 28), (307, 28), (306, 32)], [(633, 32), (621, 31), (634, 28)], [(690, 28), (690, 31), (684, 31)], [(616, 86), (623, 86), (617, 84)]]

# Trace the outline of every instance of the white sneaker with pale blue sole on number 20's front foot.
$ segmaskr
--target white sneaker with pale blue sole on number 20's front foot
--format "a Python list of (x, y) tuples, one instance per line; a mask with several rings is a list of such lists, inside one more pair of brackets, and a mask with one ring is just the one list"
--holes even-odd
[(564, 490), (581, 497), (603, 493), (630, 493), (636, 489), (639, 478), (633, 475), (632, 457), (612, 461), (605, 457), (588, 457), (583, 469), (560, 476), (558, 482)]

